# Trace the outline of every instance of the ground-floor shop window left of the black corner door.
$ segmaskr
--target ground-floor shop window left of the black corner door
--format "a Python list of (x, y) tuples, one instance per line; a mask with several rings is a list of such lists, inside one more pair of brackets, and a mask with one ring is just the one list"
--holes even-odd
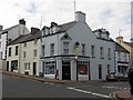
[(45, 74), (54, 74), (55, 73), (55, 62), (45, 62)]

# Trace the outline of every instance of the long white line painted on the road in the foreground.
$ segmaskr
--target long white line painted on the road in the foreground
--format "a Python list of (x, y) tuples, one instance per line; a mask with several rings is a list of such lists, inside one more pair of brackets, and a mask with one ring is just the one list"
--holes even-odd
[(100, 93), (95, 93), (95, 92), (91, 92), (91, 91), (84, 91), (84, 90), (75, 89), (75, 88), (71, 88), (71, 87), (68, 87), (66, 89), (88, 93), (88, 94), (93, 94), (93, 96), (98, 96), (98, 97), (110, 98), (109, 96), (105, 96), (105, 94), (100, 94)]

